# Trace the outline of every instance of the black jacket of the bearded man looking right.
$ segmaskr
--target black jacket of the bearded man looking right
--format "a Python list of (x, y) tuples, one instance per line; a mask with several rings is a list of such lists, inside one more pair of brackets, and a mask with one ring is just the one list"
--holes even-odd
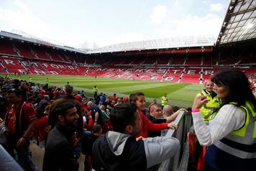
[(79, 164), (73, 154), (73, 144), (70, 139), (73, 130), (70, 127), (57, 124), (47, 137), (43, 171), (78, 170)]

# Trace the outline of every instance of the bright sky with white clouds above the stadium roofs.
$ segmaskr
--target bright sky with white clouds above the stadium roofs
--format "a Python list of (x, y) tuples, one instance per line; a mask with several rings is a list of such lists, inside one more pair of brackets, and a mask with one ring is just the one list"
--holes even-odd
[(217, 37), (229, 0), (0, 0), (0, 30), (78, 47), (166, 37)]

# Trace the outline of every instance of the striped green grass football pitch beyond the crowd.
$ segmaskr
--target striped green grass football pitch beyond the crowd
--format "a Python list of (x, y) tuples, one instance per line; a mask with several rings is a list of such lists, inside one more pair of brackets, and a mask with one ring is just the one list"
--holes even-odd
[[(2, 75), (5, 76), (5, 75)], [(17, 78), (17, 75), (9, 75)], [(93, 96), (93, 86), (99, 88), (98, 93), (106, 93), (113, 96), (129, 96), (130, 93), (141, 91), (145, 93), (147, 104), (155, 98), (157, 103), (161, 103), (161, 96), (167, 93), (169, 103), (172, 106), (191, 107), (193, 99), (203, 88), (202, 85), (193, 83), (170, 83), (148, 80), (128, 80), (114, 78), (94, 78), (77, 75), (31, 75), (32, 82), (45, 84), (45, 78), (49, 78), (50, 86), (63, 87), (67, 82), (76, 91), (85, 91), (86, 96)], [(29, 75), (22, 75), (23, 80), (28, 80)]]

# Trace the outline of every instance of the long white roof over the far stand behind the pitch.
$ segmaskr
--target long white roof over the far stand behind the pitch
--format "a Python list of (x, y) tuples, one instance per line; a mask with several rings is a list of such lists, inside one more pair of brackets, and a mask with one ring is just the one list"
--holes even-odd
[(88, 53), (101, 52), (124, 52), (133, 50), (154, 50), (176, 47), (203, 47), (213, 46), (216, 42), (216, 37), (205, 36), (190, 36), (190, 37), (173, 37), (160, 40), (145, 40), (139, 42), (126, 42), (106, 47), (99, 47), (93, 50), (88, 50)]

